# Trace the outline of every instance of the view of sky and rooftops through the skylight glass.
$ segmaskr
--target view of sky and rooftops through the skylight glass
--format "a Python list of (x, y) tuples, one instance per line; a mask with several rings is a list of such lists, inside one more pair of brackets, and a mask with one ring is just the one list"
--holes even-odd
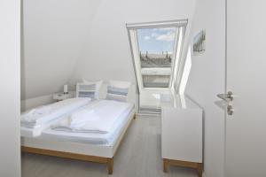
[(176, 30), (176, 27), (137, 29), (141, 74), (145, 88), (169, 87)]

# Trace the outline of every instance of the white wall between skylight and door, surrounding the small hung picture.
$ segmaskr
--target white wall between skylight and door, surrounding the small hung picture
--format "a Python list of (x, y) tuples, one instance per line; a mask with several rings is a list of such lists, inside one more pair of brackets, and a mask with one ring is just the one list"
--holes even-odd
[(204, 171), (207, 177), (223, 176), (224, 112), (215, 102), (225, 83), (224, 1), (198, 0), (192, 36), (206, 29), (206, 51), (192, 55), (186, 94), (204, 109)]

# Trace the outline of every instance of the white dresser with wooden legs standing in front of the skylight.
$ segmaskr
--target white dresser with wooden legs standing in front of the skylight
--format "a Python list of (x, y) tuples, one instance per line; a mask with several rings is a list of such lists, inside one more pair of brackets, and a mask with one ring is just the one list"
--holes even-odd
[(186, 96), (161, 100), (161, 156), (168, 165), (197, 169), (202, 175), (202, 110)]

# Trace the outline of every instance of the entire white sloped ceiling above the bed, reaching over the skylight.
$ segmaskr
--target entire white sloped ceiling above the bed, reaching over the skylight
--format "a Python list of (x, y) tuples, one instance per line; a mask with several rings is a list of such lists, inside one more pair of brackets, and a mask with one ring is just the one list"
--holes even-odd
[(126, 23), (190, 19), (196, 0), (25, 0), (21, 99), (81, 78), (135, 82)]

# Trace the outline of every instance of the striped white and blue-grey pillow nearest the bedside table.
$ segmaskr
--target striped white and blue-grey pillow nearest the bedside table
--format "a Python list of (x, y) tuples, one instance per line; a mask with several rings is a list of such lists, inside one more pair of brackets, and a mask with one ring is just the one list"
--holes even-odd
[(76, 85), (76, 96), (99, 99), (99, 90), (102, 82), (103, 81), (86, 81), (83, 79), (83, 83), (77, 83)]

